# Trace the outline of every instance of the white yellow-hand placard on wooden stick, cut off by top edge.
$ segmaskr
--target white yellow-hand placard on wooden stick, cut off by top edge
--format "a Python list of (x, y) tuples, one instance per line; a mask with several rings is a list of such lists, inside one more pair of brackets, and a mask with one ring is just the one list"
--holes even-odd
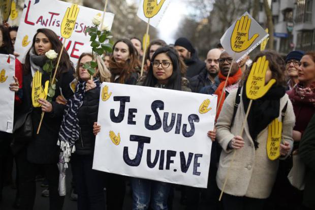
[[(157, 27), (161, 19), (168, 8), (170, 4), (169, 0), (161, 0), (159, 3), (157, 3), (157, 0), (141, 0), (140, 6), (138, 9), (138, 17), (147, 22), (146, 26), (146, 33), (145, 33), (145, 40), (144, 48), (143, 48), (143, 54), (145, 55), (146, 48), (147, 48), (147, 39), (149, 37), (149, 26), (152, 25), (153, 27)], [(141, 64), (141, 73), (140, 76), (143, 74), (143, 67), (144, 67), (144, 59), (145, 56), (142, 57), (142, 64)]]

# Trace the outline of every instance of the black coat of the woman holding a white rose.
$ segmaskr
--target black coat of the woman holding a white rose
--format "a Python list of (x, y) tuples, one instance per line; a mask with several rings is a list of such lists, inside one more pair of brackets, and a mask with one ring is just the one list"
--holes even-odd
[[(31, 163), (50, 164), (57, 163), (59, 160), (59, 146), (57, 145), (59, 128), (61, 125), (62, 114), (64, 113), (65, 105), (55, 102), (56, 97), (62, 95), (68, 100), (73, 96), (73, 91), (70, 83), (74, 80), (74, 71), (70, 69), (67, 72), (61, 73), (57, 78), (55, 96), (52, 98), (53, 111), (45, 113), (42, 126), (39, 134), (37, 129), (41, 120), (42, 109), (34, 108), (31, 104), (31, 81), (32, 75), (29, 72), (24, 76), (23, 83), (23, 104), (24, 111), (33, 107), (31, 119), (33, 123), (33, 139), (27, 144), (27, 159)], [(42, 85), (45, 86), (45, 81), (49, 79), (47, 73), (43, 73)], [(61, 89), (61, 92), (60, 92)]]

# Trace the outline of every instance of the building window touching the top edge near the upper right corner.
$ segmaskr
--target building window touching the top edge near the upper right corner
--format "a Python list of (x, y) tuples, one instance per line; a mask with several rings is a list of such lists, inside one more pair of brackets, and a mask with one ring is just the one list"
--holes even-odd
[(295, 21), (311, 22), (312, 18), (312, 0), (297, 0), (297, 10)]

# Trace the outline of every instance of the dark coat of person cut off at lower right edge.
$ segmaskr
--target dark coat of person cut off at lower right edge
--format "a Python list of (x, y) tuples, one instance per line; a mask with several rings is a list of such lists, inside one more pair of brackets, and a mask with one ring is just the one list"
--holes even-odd
[(313, 114), (300, 142), (299, 154), (305, 163), (303, 204), (315, 209), (315, 114)]

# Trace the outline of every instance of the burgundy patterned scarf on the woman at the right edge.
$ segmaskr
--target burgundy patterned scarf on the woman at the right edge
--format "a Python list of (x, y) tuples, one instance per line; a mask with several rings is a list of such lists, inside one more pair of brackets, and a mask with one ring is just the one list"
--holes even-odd
[(304, 87), (302, 83), (295, 85), (287, 92), (292, 104), (311, 104), (315, 107), (315, 82), (308, 87)]

